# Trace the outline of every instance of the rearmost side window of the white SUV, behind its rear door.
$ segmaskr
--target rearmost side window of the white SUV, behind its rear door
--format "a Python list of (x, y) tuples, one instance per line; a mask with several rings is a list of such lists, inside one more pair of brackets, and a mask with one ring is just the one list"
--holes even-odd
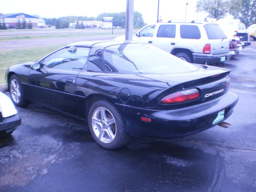
[(183, 39), (200, 39), (201, 34), (198, 26), (196, 25), (181, 25), (180, 37)]

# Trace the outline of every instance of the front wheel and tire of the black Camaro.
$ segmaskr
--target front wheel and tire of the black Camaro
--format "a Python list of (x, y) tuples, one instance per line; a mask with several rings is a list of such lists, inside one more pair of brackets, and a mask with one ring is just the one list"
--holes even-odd
[(12, 75), (9, 80), (9, 91), (12, 102), (18, 107), (26, 107), (31, 102), (26, 99), (22, 84), (17, 75)]

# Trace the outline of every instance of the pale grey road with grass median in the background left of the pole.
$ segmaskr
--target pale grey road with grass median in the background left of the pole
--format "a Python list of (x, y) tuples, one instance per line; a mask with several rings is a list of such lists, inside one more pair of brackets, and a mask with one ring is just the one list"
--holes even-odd
[[(135, 30), (136, 31), (136, 30)], [(134, 32), (135, 32), (134, 31)], [(61, 37), (62, 35), (70, 35)], [(76, 36), (77, 34), (77, 36)], [(22, 36), (38, 36), (38, 35), (53, 35), (52, 37), (46, 38), (22, 38), (10, 40), (8, 37), (22, 37)], [(60, 35), (60, 37), (56, 37)], [(102, 29), (69, 29), (69, 30), (30, 30), (30, 31), (7, 31), (0, 32), (0, 38), (6, 37), (6, 40), (0, 41), (0, 51), (23, 49), (23, 48), (37, 48), (41, 46), (51, 46), (58, 44), (70, 44), (80, 41), (91, 41), (91, 40), (113, 40), (117, 36), (124, 35), (123, 29), (102, 30)]]

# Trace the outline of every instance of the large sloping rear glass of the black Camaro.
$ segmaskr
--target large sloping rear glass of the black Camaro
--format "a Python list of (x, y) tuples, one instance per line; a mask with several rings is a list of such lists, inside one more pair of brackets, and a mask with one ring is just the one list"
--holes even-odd
[(149, 44), (118, 44), (104, 49), (106, 72), (178, 74), (198, 70), (194, 65)]

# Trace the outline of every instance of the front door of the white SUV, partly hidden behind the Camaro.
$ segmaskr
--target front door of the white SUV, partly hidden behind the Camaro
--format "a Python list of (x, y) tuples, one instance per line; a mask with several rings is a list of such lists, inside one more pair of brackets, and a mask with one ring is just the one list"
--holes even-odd
[(152, 43), (153, 36), (156, 31), (156, 25), (149, 25), (144, 27), (135, 36), (133, 36), (132, 40), (142, 42), (142, 43)]

